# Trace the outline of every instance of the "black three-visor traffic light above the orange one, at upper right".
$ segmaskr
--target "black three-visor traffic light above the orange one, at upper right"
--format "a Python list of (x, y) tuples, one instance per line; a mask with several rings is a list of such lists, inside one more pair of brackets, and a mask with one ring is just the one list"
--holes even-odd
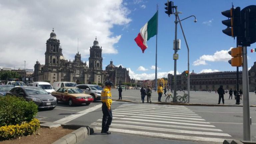
[(228, 20), (222, 21), (222, 24), (227, 26), (222, 32), (232, 38), (241, 35), (241, 11), (240, 7), (231, 8), (230, 10), (221, 12), (222, 15), (228, 17)]

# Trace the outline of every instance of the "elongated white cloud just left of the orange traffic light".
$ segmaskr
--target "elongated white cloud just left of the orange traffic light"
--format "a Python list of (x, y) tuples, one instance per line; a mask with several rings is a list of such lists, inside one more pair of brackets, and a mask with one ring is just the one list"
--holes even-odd
[(193, 62), (193, 66), (199, 66), (199, 65), (207, 65), (206, 61), (209, 62), (217, 62), (217, 61), (223, 61), (227, 62), (228, 60), (231, 59), (231, 56), (228, 54), (228, 51), (230, 51), (232, 48), (229, 50), (221, 50), (221, 51), (216, 51), (213, 55), (203, 55), (199, 59)]

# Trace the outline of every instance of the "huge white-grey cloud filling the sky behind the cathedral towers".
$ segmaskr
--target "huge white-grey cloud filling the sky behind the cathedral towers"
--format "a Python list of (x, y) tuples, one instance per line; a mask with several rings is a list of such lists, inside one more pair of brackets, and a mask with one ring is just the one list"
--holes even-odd
[(71, 61), (77, 52), (88, 60), (95, 36), (103, 54), (117, 54), (114, 44), (121, 35), (111, 31), (115, 25), (131, 21), (130, 10), (122, 0), (84, 1), (1, 1), (0, 66), (32, 69), (36, 60), (45, 62), (45, 43), (54, 27), (64, 57)]

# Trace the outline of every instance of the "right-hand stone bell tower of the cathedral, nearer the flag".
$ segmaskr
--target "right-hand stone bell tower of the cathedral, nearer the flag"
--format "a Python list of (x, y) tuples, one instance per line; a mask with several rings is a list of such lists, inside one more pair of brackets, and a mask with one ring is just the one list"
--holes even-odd
[(102, 48), (99, 47), (99, 42), (97, 37), (93, 42), (93, 46), (90, 47), (90, 57), (89, 57), (89, 69), (102, 70)]

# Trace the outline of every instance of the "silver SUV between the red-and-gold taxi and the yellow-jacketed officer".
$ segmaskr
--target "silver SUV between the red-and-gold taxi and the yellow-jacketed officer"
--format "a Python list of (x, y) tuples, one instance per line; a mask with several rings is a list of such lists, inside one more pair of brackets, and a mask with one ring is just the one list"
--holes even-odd
[(101, 91), (103, 90), (99, 85), (94, 84), (78, 84), (76, 87), (82, 89), (85, 93), (93, 96), (94, 100), (100, 100)]

